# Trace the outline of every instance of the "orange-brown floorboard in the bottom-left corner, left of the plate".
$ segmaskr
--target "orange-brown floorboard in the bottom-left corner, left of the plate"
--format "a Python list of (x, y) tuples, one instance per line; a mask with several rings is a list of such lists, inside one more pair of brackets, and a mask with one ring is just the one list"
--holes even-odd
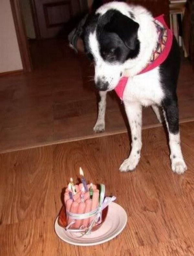
[(54, 218), (43, 217), (1, 225), (0, 255), (57, 255), (59, 241), (53, 235), (53, 223)]

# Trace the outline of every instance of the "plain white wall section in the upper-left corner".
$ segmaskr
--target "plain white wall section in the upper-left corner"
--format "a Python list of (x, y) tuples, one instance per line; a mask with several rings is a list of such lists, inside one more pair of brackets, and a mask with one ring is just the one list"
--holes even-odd
[(11, 5), (9, 0), (0, 0), (0, 73), (21, 69)]

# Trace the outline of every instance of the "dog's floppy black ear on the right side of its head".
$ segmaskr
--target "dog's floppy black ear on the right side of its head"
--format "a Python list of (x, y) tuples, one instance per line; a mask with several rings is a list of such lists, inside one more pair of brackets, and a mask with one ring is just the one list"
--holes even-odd
[(135, 50), (138, 28), (137, 22), (116, 10), (104, 26), (105, 31), (116, 33), (131, 50)]

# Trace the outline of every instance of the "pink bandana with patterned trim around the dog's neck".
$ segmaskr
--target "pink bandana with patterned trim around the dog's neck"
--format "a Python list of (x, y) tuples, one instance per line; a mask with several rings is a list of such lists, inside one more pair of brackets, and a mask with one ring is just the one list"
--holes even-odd
[[(158, 33), (156, 50), (153, 52), (147, 66), (139, 74), (143, 74), (161, 65), (166, 60), (172, 46), (173, 34), (165, 23), (164, 15), (156, 17), (154, 23), (156, 24)], [(127, 81), (128, 77), (122, 77), (117, 86), (114, 88), (116, 94), (121, 100), (123, 99), (124, 88)]]

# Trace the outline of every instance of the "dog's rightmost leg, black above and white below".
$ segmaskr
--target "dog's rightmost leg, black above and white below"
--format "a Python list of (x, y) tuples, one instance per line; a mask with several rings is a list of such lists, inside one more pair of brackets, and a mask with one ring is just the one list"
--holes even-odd
[(181, 174), (187, 170), (187, 166), (180, 148), (177, 100), (167, 100), (163, 109), (169, 134), (171, 168), (174, 173)]

